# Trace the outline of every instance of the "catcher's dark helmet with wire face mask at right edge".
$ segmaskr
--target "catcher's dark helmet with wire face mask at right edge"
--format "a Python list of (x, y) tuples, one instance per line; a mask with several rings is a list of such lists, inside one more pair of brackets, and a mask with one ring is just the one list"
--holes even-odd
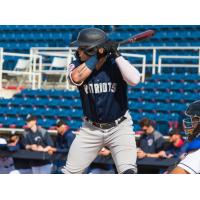
[(188, 140), (191, 141), (200, 135), (200, 100), (191, 103), (185, 114), (188, 118), (183, 120), (183, 126)]

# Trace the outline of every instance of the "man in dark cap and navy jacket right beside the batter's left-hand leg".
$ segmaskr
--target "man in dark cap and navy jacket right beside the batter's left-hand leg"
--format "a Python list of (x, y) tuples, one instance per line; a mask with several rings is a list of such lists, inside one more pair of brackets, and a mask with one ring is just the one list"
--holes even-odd
[(74, 139), (74, 134), (71, 132), (70, 127), (61, 119), (56, 122), (57, 136), (55, 141), (54, 152), (56, 153), (56, 161), (54, 161), (54, 173), (61, 173), (61, 168), (66, 163), (66, 155), (68, 154), (69, 147)]

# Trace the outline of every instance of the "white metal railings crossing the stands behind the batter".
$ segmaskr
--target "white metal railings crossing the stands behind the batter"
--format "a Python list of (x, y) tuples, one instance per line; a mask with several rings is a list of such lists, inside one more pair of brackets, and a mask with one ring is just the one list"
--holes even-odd
[[(66, 57), (69, 59), (69, 63), (74, 59), (74, 53), (76, 48), (69, 47), (34, 47), (30, 49), (30, 54), (16, 54), (16, 53), (6, 53), (3, 52), (3, 48), (0, 48), (0, 88), (2, 88), (2, 75), (3, 73), (14, 73), (18, 74), (19, 72), (12, 72), (11, 70), (3, 70), (3, 58), (4, 56), (23, 56), (29, 57), (32, 63), (32, 67), (28, 72), (20, 72), (21, 74), (27, 75), (29, 81), (32, 82), (32, 89), (42, 88), (42, 76), (46, 74), (63, 74), (67, 76), (66, 71), (49, 71), (45, 70), (44, 66), (49, 65), (50, 63), (44, 63), (43, 58), (45, 56), (51, 57)], [(142, 82), (145, 81), (146, 68), (152, 68), (152, 74), (161, 73), (162, 67), (197, 67), (198, 74), (200, 74), (200, 47), (120, 47), (120, 50), (123, 56), (130, 58), (139, 58), (142, 62), (132, 63), (135, 67), (142, 69)], [(191, 55), (166, 55), (167, 51), (191, 51), (195, 53), (195, 56)], [(135, 53), (137, 51), (137, 53)], [(145, 51), (141, 52), (140, 51)], [(164, 52), (165, 53), (164, 53)], [(180, 53), (181, 54), (181, 53)], [(151, 59), (149, 57), (151, 56)], [(164, 64), (163, 59), (195, 59), (198, 60), (198, 64)], [(36, 85), (37, 83), (37, 85)], [(70, 87), (69, 82), (66, 79), (66, 89)]]

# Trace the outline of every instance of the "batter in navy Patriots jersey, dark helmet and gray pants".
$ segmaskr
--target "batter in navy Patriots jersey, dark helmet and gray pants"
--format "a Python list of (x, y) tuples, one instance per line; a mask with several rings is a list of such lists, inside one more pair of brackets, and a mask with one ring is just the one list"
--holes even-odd
[(83, 173), (105, 146), (111, 151), (118, 173), (134, 174), (136, 144), (127, 85), (138, 84), (140, 73), (101, 29), (81, 30), (72, 45), (78, 49), (69, 78), (79, 89), (85, 117), (62, 172)]

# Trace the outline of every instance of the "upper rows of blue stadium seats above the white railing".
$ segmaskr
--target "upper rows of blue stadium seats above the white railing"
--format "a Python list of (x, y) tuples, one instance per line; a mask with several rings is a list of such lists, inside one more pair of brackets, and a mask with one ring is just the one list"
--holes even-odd
[[(95, 26), (95, 25), (2, 25), (0, 27), (0, 46), (6, 51), (27, 52), (31, 47), (63, 47), (76, 38), (82, 28), (100, 27), (110, 39), (122, 40), (147, 29), (156, 30), (156, 35), (149, 41), (134, 46), (198, 46), (200, 26)], [(132, 44), (130, 44), (131, 46)]]

